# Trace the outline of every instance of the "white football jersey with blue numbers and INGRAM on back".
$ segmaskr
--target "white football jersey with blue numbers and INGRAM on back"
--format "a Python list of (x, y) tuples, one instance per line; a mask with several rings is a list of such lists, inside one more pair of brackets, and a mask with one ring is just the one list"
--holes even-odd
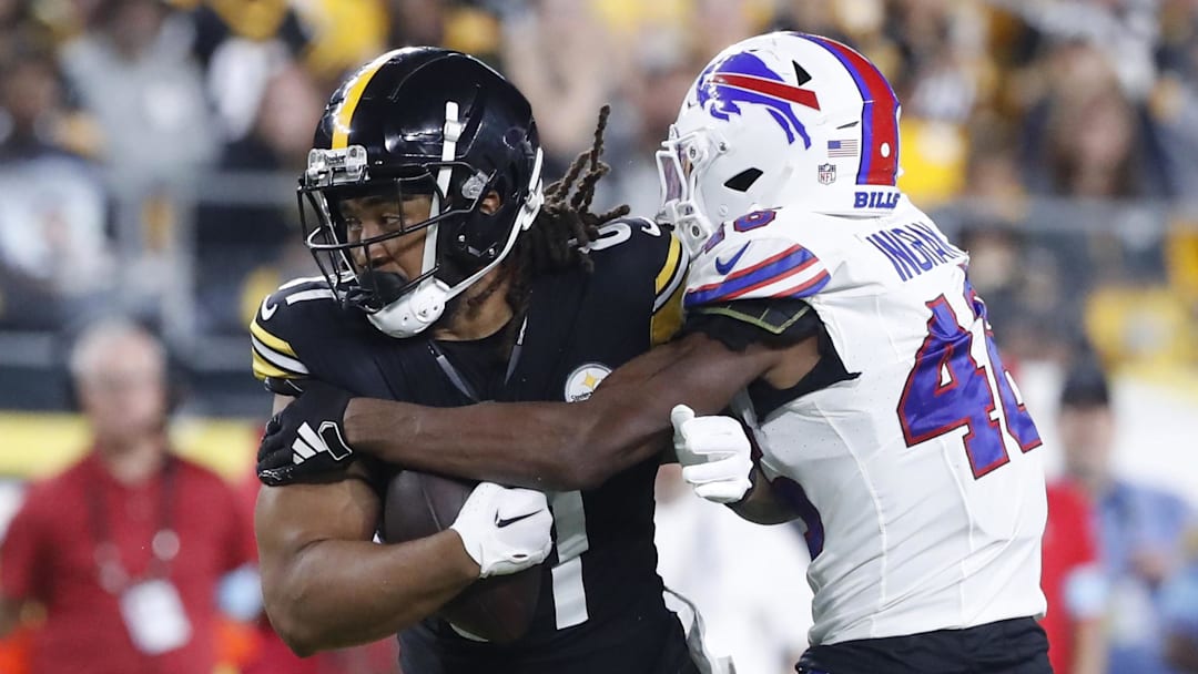
[(1045, 612), (1040, 437), (967, 262), (901, 198), (887, 217), (760, 211), (691, 265), (689, 306), (801, 298), (855, 375), (761, 419), (740, 399), (806, 524), (812, 644)]

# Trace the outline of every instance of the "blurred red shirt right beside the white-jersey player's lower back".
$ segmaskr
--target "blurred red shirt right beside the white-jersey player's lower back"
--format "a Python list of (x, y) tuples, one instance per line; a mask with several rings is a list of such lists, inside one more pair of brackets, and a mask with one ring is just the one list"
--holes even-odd
[(1106, 589), (1099, 566), (1094, 511), (1069, 482), (1048, 485), (1040, 584), (1048, 600), (1045, 632), (1057, 674), (1101, 674), (1106, 661), (1102, 613)]

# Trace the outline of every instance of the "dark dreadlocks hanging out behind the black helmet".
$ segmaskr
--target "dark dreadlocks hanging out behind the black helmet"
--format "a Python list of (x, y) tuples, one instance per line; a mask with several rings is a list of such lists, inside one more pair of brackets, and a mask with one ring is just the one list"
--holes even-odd
[(610, 105), (600, 108), (591, 148), (574, 158), (562, 180), (545, 188), (545, 202), (540, 213), (528, 231), (516, 239), (508, 269), (512, 284), (508, 286), (507, 300), (518, 316), (527, 309), (533, 279), (575, 265), (581, 265), (589, 272), (592, 262), (587, 256), (587, 247), (599, 237), (599, 227), (629, 213), (627, 205), (604, 213), (591, 212), (595, 184), (611, 170), (611, 166), (600, 160), (603, 133), (607, 128), (610, 114)]

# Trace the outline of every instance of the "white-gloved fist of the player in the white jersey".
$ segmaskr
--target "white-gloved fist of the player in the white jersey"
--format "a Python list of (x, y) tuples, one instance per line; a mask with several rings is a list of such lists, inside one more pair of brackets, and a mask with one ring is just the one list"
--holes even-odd
[(731, 417), (695, 417), (685, 405), (670, 412), (674, 454), (682, 479), (715, 503), (737, 503), (752, 486), (752, 448), (740, 421)]

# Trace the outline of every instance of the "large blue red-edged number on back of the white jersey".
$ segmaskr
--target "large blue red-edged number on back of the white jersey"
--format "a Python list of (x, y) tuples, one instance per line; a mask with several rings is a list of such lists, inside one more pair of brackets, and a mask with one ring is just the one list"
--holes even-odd
[[(927, 303), (932, 311), (927, 336), (898, 399), (898, 423), (907, 447), (967, 427), (966, 455), (978, 479), (1011, 460), (1004, 427), (1024, 453), (1041, 442), (988, 334), (986, 305), (968, 284), (966, 304), (972, 315), (963, 326), (945, 296)], [(985, 341), (980, 358), (973, 353), (975, 340)]]

